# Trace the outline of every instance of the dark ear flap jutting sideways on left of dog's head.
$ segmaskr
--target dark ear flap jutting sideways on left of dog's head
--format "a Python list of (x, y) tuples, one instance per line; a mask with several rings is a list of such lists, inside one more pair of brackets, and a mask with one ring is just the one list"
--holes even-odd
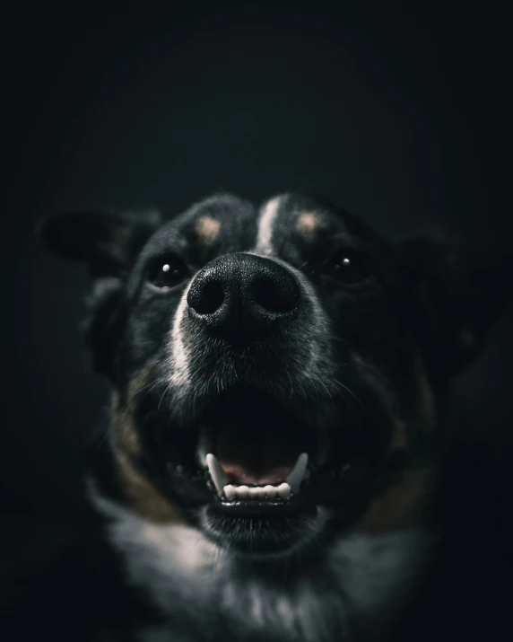
[(156, 210), (71, 211), (49, 215), (39, 223), (37, 232), (51, 254), (83, 261), (93, 278), (124, 277), (160, 224)]

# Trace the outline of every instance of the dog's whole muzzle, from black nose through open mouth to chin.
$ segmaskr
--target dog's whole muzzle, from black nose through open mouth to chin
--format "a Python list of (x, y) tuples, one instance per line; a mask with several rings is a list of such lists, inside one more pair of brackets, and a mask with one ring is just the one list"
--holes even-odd
[(158, 456), (170, 497), (202, 508), (214, 541), (291, 550), (317, 532), (319, 507), (341, 523), (361, 510), (378, 430), (365, 391), (348, 406), (330, 337), (315, 287), (280, 259), (228, 254), (184, 291)]

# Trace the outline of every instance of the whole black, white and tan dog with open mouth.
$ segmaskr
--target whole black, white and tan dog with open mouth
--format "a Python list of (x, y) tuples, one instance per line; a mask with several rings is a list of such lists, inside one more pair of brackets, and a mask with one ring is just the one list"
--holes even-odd
[(449, 382), (503, 307), (483, 269), (299, 193), (39, 234), (91, 273), (113, 392), (86, 484), (130, 639), (387, 638), (437, 555)]

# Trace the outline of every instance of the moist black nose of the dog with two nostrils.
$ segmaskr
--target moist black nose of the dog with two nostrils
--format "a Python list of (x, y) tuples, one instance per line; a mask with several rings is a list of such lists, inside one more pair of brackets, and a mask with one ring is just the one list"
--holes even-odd
[(272, 259), (228, 254), (197, 273), (187, 303), (189, 316), (212, 335), (246, 345), (297, 317), (300, 286)]

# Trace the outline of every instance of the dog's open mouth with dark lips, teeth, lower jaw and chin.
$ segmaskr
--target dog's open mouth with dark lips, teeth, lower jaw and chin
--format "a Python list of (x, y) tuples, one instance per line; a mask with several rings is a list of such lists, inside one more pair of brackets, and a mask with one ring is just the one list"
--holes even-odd
[(255, 387), (222, 391), (170, 432), (165, 488), (213, 539), (239, 549), (290, 547), (314, 530), (319, 510), (345, 527), (367, 504), (376, 439), (341, 407), (313, 414)]

